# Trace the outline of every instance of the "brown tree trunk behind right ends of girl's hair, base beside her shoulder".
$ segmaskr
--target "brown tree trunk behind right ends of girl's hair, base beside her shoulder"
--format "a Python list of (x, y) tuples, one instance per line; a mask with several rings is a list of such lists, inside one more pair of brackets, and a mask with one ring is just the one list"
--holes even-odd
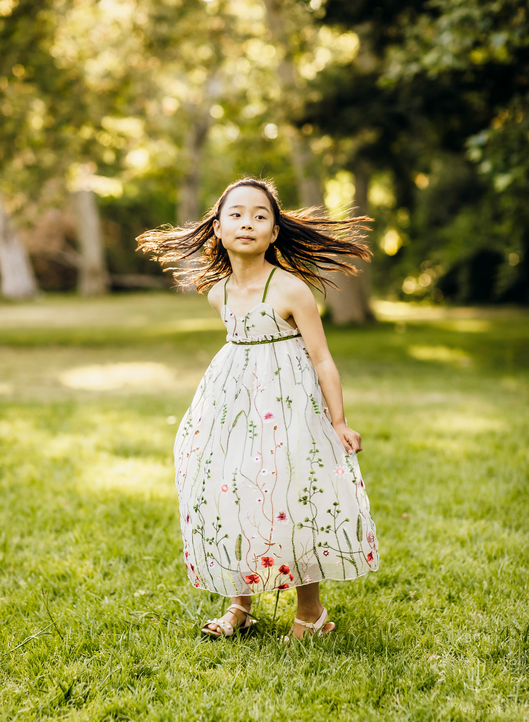
[[(359, 162), (354, 168), (355, 215), (368, 215), (367, 189), (370, 183), (370, 170), (367, 164)], [(329, 289), (327, 303), (331, 308), (334, 323), (365, 323), (372, 317), (370, 307), (371, 266), (362, 258), (353, 259), (354, 266), (360, 271), (357, 276), (332, 274), (329, 277), (340, 287), (339, 291)]]

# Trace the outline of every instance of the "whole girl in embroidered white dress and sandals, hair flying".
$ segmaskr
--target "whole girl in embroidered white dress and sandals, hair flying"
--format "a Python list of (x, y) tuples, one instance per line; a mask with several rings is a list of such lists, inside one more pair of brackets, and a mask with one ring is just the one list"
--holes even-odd
[(292, 587), (291, 633), (332, 632), (320, 580), (377, 570), (357, 461), (362, 440), (347, 426), (338, 370), (304, 282), (324, 289), (320, 270), (354, 272), (329, 254), (369, 258), (358, 242), (366, 220), (284, 212), (271, 183), (245, 178), (202, 222), (138, 239), (159, 261), (194, 256), (195, 269), (178, 274), (198, 291), (212, 285), (209, 303), (228, 332), (175, 440), (189, 578), (232, 601), (206, 624), (207, 635), (248, 630), (253, 594)]

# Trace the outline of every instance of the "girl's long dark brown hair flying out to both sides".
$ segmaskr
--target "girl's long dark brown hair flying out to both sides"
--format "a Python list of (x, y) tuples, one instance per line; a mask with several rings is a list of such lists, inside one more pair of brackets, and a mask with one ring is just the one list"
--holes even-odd
[[(217, 281), (226, 278), (232, 271), (229, 256), (217, 238), (213, 228), (215, 219), (219, 220), (222, 206), (228, 193), (234, 188), (259, 188), (266, 193), (274, 213), (274, 225), (279, 226), (275, 243), (271, 243), (265, 258), (273, 266), (279, 266), (302, 279), (325, 294), (325, 287), (338, 288), (331, 279), (322, 276), (321, 271), (341, 271), (355, 275), (357, 269), (344, 258), (336, 256), (355, 256), (370, 261), (372, 252), (362, 243), (366, 238), (364, 231), (370, 231), (366, 225), (372, 219), (359, 216), (345, 220), (331, 220), (318, 215), (317, 207), (298, 211), (283, 211), (277, 196), (276, 187), (271, 181), (242, 178), (231, 183), (207, 216), (185, 227), (160, 226), (148, 230), (136, 238), (138, 249), (151, 253), (154, 260), (162, 264), (178, 263), (191, 259), (190, 264), (170, 267), (177, 286), (196, 285), (201, 293)], [(198, 255), (198, 251), (201, 253)], [(187, 265), (187, 267), (182, 267)], [(179, 276), (185, 276), (180, 281)]]

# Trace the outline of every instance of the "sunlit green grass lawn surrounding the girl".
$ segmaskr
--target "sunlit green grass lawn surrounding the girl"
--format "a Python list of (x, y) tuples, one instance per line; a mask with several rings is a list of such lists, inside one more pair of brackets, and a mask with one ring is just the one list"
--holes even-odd
[(181, 560), (206, 301), (0, 305), (0, 720), (529, 720), (529, 316), (394, 310), (328, 329), (380, 570), (323, 583), (338, 633), (285, 647), (293, 591), (212, 642)]

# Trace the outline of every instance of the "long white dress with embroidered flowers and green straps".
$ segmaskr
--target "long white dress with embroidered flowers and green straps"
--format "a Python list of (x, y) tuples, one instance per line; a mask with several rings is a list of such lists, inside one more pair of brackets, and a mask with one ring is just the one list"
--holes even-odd
[(266, 303), (269, 282), (243, 317), (224, 290), (227, 344), (175, 440), (185, 566), (224, 596), (378, 567), (357, 456), (331, 426), (300, 332)]

